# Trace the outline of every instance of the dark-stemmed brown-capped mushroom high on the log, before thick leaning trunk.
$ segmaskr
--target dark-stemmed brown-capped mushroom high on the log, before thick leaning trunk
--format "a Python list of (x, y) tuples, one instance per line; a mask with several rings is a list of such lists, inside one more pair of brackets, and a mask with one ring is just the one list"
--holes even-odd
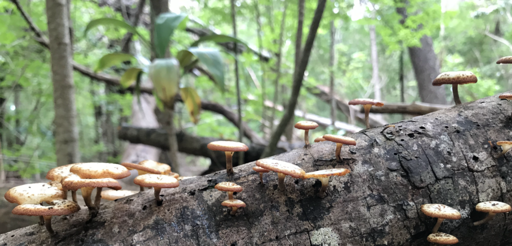
[(442, 85), (452, 85), (453, 88), (453, 100), (455, 101), (455, 105), (462, 104), (459, 98), (459, 90), (458, 85), (465, 84), (475, 84), (477, 83), (478, 78), (470, 71), (460, 71), (460, 72), (444, 72), (439, 74), (434, 81), (432, 81), (433, 86), (442, 86)]

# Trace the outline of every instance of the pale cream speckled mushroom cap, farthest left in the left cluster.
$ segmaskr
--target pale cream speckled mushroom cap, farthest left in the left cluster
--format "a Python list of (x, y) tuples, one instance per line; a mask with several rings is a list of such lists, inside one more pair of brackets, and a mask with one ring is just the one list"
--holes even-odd
[(51, 186), (49, 183), (29, 183), (23, 186), (16, 186), (9, 189), (4, 198), (17, 204), (37, 204), (51, 202), (57, 199), (64, 199), (66, 192)]

